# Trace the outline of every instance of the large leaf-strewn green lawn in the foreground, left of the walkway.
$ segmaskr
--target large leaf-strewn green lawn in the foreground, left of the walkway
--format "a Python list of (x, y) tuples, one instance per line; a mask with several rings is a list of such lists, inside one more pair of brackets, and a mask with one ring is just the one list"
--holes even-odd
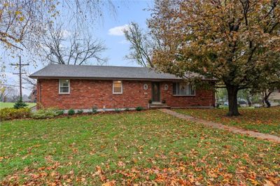
[(158, 110), (1, 123), (1, 185), (255, 185), (280, 145)]

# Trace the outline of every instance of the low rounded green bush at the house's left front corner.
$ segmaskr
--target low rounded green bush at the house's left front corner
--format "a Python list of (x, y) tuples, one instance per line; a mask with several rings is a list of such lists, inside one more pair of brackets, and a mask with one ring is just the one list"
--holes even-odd
[(63, 110), (59, 110), (57, 108), (42, 108), (37, 110), (35, 113), (32, 113), (31, 117), (34, 119), (47, 119), (62, 115), (63, 113)]

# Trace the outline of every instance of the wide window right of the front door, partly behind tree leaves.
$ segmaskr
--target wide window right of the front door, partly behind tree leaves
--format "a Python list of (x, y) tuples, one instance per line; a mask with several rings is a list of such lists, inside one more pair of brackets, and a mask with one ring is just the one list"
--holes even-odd
[(187, 83), (173, 83), (174, 96), (195, 96), (195, 90)]

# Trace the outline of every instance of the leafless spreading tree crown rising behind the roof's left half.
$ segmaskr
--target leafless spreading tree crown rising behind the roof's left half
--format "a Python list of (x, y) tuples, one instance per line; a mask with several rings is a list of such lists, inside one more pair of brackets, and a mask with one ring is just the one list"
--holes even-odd
[(43, 37), (42, 52), (51, 63), (81, 65), (90, 59), (97, 64), (106, 62), (106, 58), (102, 57), (106, 48), (101, 41), (92, 39), (90, 34), (81, 35), (79, 30), (70, 32), (63, 28), (63, 24), (54, 27), (51, 23), (48, 24), (47, 33)]

